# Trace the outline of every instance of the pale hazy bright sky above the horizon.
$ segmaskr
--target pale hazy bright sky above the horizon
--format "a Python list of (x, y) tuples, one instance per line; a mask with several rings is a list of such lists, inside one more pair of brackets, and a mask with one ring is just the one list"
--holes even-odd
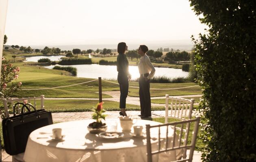
[(9, 0), (7, 45), (189, 40), (204, 32), (188, 0)]

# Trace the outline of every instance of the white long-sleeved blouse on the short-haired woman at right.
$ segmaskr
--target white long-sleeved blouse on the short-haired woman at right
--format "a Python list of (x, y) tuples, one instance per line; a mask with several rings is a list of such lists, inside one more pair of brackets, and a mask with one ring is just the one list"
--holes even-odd
[(143, 75), (143, 77), (145, 73), (150, 72), (150, 75), (148, 75), (147, 77), (148, 79), (152, 78), (156, 72), (156, 69), (154, 68), (154, 66), (150, 62), (148, 55), (146, 54), (141, 57), (138, 68), (139, 68), (140, 75)]

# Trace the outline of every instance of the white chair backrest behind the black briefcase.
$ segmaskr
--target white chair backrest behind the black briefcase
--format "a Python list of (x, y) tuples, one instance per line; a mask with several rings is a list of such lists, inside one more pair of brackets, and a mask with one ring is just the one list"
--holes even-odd
[[(43, 103), (44, 95), (41, 95), (40, 97), (16, 98), (16, 99), (9, 99), (9, 100), (4, 98), (2, 100), (4, 102), (5, 116), (6, 117), (10, 116), (9, 115), (9, 109), (8, 109), (9, 108), (8, 107), (8, 103), (9, 102), (11, 103), (10, 109), (13, 109), (15, 103), (17, 103), (17, 102), (24, 102), (25, 100), (27, 100), (27, 103), (32, 104), (36, 108), (36, 103), (37, 103), (36, 100), (39, 100), (39, 99), (41, 100), (41, 109), (43, 109), (44, 108), (44, 103)], [(17, 113), (20, 114), (21, 113), (21, 107), (20, 107), (19, 104), (17, 105), (17, 107), (18, 107)], [(30, 109), (30, 107), (28, 107), (28, 108)], [(15, 109), (15, 111), (16, 111), (16, 109)]]

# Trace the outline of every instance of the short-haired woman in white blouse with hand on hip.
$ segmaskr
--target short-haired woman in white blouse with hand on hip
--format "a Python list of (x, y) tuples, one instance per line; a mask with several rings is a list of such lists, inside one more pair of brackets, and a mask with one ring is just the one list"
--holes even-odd
[(141, 103), (141, 117), (151, 117), (151, 99), (150, 99), (150, 78), (152, 78), (156, 72), (154, 66), (150, 62), (148, 55), (148, 47), (140, 45), (138, 53), (141, 55), (139, 61), (139, 100)]

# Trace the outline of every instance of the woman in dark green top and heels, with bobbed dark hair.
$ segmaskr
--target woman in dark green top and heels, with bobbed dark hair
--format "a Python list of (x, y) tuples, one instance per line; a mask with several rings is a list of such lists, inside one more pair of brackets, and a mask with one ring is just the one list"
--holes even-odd
[(126, 55), (124, 54), (125, 51), (128, 50), (128, 47), (126, 46), (126, 43), (121, 42), (118, 43), (117, 46), (117, 81), (119, 83), (120, 87), (120, 103), (119, 103), (119, 108), (121, 111), (119, 112), (120, 115), (122, 116), (127, 116), (125, 112), (126, 108), (126, 98), (128, 95), (128, 86), (131, 79), (131, 75), (129, 73), (129, 62), (126, 58)]

